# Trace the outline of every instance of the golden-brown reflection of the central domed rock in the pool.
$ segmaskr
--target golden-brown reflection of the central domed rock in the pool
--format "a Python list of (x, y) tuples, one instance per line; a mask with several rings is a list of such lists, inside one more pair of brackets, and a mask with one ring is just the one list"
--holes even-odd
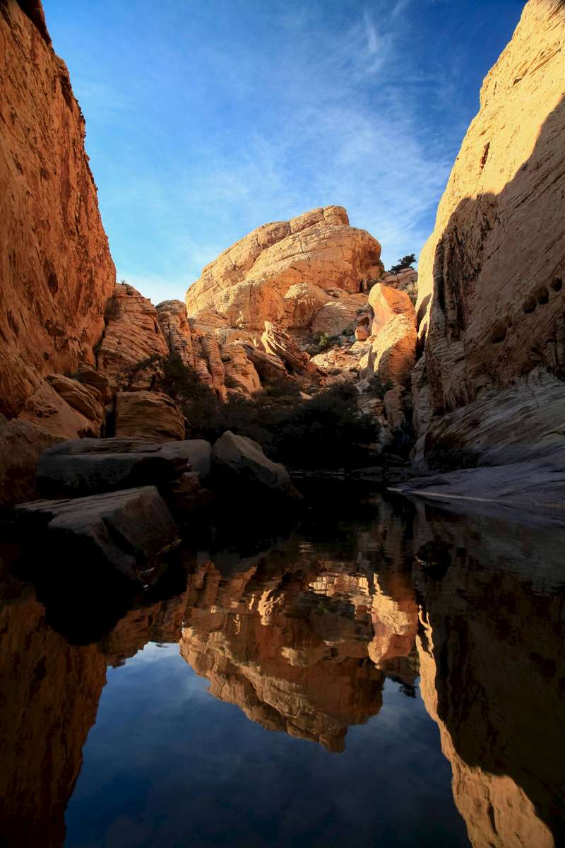
[(387, 663), (391, 674), (415, 678), (402, 658), (413, 647), (416, 606), (407, 595), (400, 605), (385, 600), (370, 568), (320, 561), (306, 545), (276, 570), (267, 558), (224, 579), (208, 563), (192, 592), (181, 655), (213, 695), (265, 728), (343, 750), (348, 726), (379, 711)]

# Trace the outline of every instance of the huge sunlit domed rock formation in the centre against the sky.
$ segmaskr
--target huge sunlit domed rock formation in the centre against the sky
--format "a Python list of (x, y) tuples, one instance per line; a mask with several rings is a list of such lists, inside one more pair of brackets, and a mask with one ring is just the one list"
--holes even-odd
[(328, 292), (360, 292), (382, 271), (380, 245), (341, 206), (264, 224), (207, 265), (186, 293), (189, 315), (215, 309), (232, 326), (307, 326)]

